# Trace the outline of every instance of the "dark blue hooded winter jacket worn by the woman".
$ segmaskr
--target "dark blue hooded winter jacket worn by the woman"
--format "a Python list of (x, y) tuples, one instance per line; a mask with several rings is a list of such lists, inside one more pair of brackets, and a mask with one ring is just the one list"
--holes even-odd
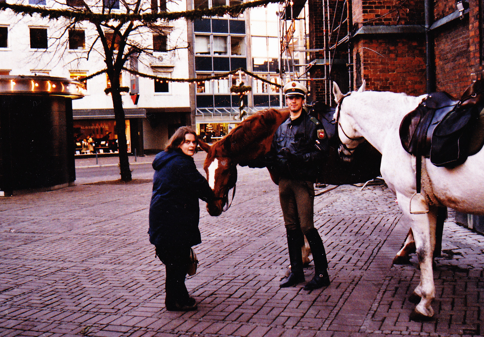
[(198, 199), (214, 195), (198, 172), (192, 157), (181, 150), (163, 151), (153, 161), (153, 191), (150, 204), (150, 242), (155, 246), (201, 243)]

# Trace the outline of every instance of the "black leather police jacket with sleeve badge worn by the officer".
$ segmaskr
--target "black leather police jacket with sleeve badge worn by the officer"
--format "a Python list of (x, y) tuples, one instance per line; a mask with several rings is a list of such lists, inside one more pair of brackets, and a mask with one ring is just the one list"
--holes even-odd
[(301, 116), (287, 118), (279, 126), (268, 159), (280, 177), (315, 182), (318, 165), (328, 151), (327, 139), (318, 119), (303, 110)]

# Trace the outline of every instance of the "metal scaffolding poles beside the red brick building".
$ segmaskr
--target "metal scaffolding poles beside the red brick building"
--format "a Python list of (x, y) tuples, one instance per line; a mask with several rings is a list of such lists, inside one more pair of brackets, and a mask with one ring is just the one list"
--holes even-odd
[[(317, 15), (322, 15), (323, 31), (318, 32), (318, 41), (313, 37), (313, 43), (310, 42), (311, 36), (308, 34), (308, 21), (309, 15), (315, 14), (309, 13), (306, 1), (286, 0), (281, 6), (279, 12), (281, 80), (283, 83), (289, 80), (306, 81), (308, 88), (310, 84), (321, 87), (322, 97), (318, 95), (318, 100), (331, 105), (333, 102), (331, 81), (335, 77), (336, 68), (339, 67), (339, 70), (342, 66), (346, 68), (348, 89), (352, 88), (351, 2), (322, 0), (322, 3), (323, 6), (318, 8)], [(296, 36), (297, 32), (298, 36)], [(312, 48), (310, 48), (311, 44)], [(295, 58), (297, 53), (303, 53), (303, 57), (300, 55), (299, 59)], [(319, 75), (310, 77), (310, 73)]]

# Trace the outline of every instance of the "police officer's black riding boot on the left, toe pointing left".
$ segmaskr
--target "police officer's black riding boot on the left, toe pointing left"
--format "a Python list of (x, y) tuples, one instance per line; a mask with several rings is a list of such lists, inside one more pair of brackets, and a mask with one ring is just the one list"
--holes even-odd
[(304, 282), (304, 271), (302, 269), (302, 251), (304, 236), (301, 229), (287, 229), (287, 250), (289, 251), (289, 261), (291, 262), (291, 272), (287, 278), (284, 278), (279, 284), (281, 288), (292, 287), (298, 283)]

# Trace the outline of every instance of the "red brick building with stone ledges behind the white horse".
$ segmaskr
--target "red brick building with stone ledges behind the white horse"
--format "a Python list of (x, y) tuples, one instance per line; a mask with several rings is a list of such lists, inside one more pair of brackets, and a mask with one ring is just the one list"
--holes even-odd
[[(370, 90), (460, 97), (483, 72), (483, 8), (484, 0), (461, 11), (454, 0), (309, 0), (309, 47), (321, 49), (311, 77), (347, 90), (364, 79)], [(312, 81), (313, 99), (328, 95), (328, 83)]]

